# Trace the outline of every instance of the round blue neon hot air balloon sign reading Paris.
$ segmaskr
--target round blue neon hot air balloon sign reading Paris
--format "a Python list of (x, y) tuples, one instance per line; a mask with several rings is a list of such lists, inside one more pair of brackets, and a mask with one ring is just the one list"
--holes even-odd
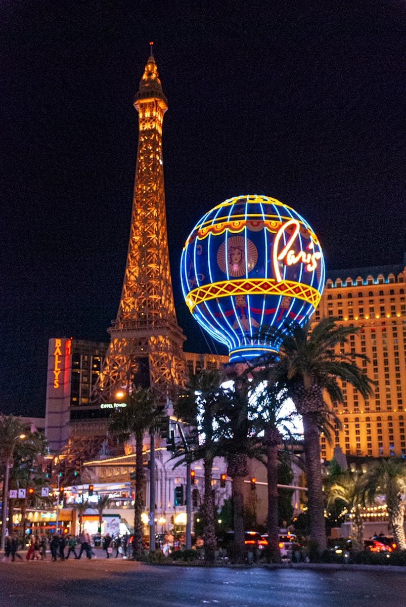
[(269, 351), (264, 327), (304, 324), (319, 304), (325, 268), (319, 240), (275, 198), (239, 196), (211, 209), (181, 258), (184, 299), (194, 318), (227, 345), (230, 362)]

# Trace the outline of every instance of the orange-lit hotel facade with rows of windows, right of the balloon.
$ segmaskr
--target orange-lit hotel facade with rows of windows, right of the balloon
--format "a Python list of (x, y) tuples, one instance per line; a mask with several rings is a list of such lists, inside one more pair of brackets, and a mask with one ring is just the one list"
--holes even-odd
[[(351, 385), (342, 384), (343, 404), (330, 403), (342, 424), (336, 424), (332, 444), (320, 436), (322, 458), (334, 447), (347, 455), (406, 455), (406, 256), (399, 265), (336, 270), (327, 273), (325, 290), (314, 320), (335, 317), (359, 328), (339, 348), (366, 354), (358, 361), (374, 381), (373, 395), (364, 401)], [(354, 359), (357, 359), (354, 356)]]

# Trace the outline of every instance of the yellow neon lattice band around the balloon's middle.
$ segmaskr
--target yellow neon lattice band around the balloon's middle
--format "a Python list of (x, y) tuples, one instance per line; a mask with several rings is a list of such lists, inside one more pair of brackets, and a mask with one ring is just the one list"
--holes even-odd
[(224, 280), (222, 282), (213, 282), (210, 285), (203, 285), (188, 293), (186, 305), (192, 313), (193, 308), (202, 302), (217, 297), (229, 297), (231, 295), (286, 295), (302, 299), (314, 308), (319, 304), (320, 293), (314, 287), (308, 287), (300, 282), (293, 280), (283, 280), (276, 282), (275, 279), (241, 279)]

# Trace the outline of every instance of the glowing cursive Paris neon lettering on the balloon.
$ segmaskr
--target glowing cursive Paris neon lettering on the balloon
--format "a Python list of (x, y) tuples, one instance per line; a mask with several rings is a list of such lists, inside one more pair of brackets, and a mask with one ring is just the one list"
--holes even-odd
[[(291, 230), (293, 227), (293, 231), (288, 238), (288, 242), (283, 247), (282, 251), (278, 253), (280, 239), (282, 239), (283, 234), (285, 234), (286, 229)], [(285, 265), (291, 266), (296, 263), (303, 263), (306, 266), (306, 270), (308, 272), (313, 272), (317, 268), (317, 261), (321, 259), (322, 254), (320, 251), (314, 251), (313, 253), (306, 253), (306, 251), (299, 251), (296, 253), (291, 246), (296, 240), (297, 235), (299, 234), (300, 223), (296, 219), (290, 219), (288, 222), (284, 223), (281, 228), (277, 231), (274, 240), (274, 247), (272, 249), (272, 262), (274, 266), (274, 273), (277, 282), (282, 282), (282, 276), (280, 275), (278, 262), (283, 259), (283, 263)], [(314, 248), (313, 241), (308, 245), (309, 249)]]

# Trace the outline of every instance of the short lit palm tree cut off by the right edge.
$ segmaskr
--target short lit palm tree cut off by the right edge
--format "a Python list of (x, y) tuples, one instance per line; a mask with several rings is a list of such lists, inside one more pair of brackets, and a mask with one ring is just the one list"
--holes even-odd
[(406, 464), (404, 459), (380, 459), (367, 472), (365, 497), (370, 503), (377, 495), (385, 495), (393, 537), (401, 550), (406, 550), (404, 531), (404, 495)]

